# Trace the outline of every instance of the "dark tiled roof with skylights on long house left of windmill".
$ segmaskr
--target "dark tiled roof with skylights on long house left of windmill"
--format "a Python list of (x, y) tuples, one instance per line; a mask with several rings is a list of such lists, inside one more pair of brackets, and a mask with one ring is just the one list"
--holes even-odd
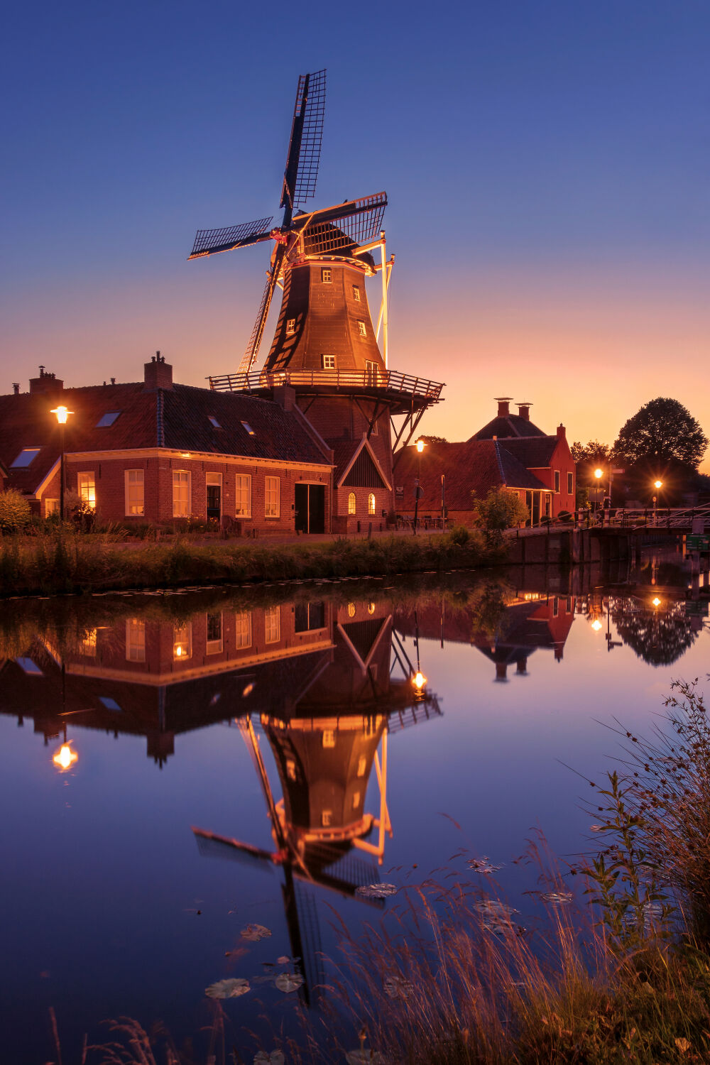
[[(34, 493), (60, 456), (60, 430), (51, 413), (60, 403), (72, 411), (65, 431), (67, 454), (164, 446), (327, 463), (300, 420), (269, 400), (186, 384), (161, 391), (146, 391), (141, 381), (97, 384), (65, 389), (53, 396), (42, 392), (0, 396), (0, 462), (9, 469), (7, 484), (20, 491)], [(97, 427), (105, 414), (115, 412), (112, 425)], [(38, 447), (39, 453), (26, 469), (11, 469), (24, 447)]]

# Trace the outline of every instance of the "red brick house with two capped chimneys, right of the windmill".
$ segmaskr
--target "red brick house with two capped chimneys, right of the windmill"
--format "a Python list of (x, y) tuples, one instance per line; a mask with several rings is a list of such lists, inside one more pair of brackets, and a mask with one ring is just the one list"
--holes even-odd
[[(475, 501), (492, 488), (508, 488), (526, 504), (530, 522), (575, 508), (575, 463), (564, 426), (547, 436), (530, 421), (530, 404), (510, 413), (510, 399), (498, 399), (498, 413), (463, 443), (428, 443), (420, 458), (414, 446), (401, 456), (395, 475), (398, 513), (414, 512), (415, 480), (420, 469), (419, 515), (436, 518), (442, 511), (442, 476), (447, 515), (470, 525)], [(475, 493), (475, 495), (472, 495)]]

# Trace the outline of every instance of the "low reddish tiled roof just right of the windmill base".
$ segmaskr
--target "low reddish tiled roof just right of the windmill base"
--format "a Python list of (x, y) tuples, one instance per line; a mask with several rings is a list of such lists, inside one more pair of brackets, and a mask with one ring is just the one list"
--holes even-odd
[[(412, 510), (414, 480), (419, 466), (416, 447), (404, 449), (395, 469), (395, 508)], [(442, 503), (442, 474), (445, 475), (445, 496), (448, 510), (472, 510), (472, 491), (479, 498), (491, 488), (542, 489), (543, 484), (495, 440), (468, 440), (460, 444), (427, 444), (422, 454), (420, 484), (424, 495), (420, 512), (439, 512)]]

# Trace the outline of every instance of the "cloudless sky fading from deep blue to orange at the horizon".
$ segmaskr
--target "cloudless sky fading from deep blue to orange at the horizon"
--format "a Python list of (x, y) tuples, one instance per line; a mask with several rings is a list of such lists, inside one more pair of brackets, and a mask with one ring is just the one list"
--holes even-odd
[(185, 383), (236, 370), (268, 246), (186, 257), (280, 219), (325, 66), (311, 202), (386, 190), (390, 364), (447, 383), (424, 432), (510, 395), (611, 443), (665, 395), (710, 435), (707, 3), (28, 0), (3, 36), (0, 392), (39, 363), (136, 380), (158, 348)]

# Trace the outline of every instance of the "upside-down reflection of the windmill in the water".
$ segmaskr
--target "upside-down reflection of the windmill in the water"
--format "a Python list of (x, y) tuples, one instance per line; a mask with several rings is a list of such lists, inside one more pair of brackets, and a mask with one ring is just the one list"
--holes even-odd
[[(303, 960), (307, 1001), (324, 982), (312, 889), (356, 897), (358, 887), (379, 881), (378, 864), (385, 838), (392, 836), (389, 734), (441, 712), (426, 686), (417, 691), (411, 670), (397, 677), (401, 659), (395, 653), (391, 669), (391, 615), (375, 604), (349, 604), (334, 625), (332, 651), (321, 656), (297, 692), (284, 692), (287, 708), (240, 719), (264, 796), (273, 851), (194, 830), (205, 854), (283, 870), (292, 952)], [(279, 800), (263, 757), (263, 737), (278, 770)], [(377, 792), (374, 812), (366, 809), (370, 777)]]

